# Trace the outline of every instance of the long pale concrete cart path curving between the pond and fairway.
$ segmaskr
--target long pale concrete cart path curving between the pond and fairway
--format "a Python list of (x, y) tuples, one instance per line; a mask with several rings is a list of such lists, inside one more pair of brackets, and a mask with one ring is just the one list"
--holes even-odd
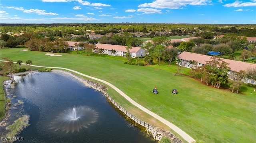
[[(16, 62), (14, 62), (16, 63)], [(22, 63), (22, 65), (26, 65), (24, 63)], [(118, 89), (116, 86), (112, 85), (111, 83), (109, 82), (106, 82), (104, 80), (101, 80), (99, 78), (95, 78), (95, 77), (92, 77), (92, 76), (88, 76), (86, 74), (83, 74), (81, 72), (77, 72), (77, 71), (74, 71), (74, 70), (71, 70), (71, 69), (66, 69), (66, 68), (61, 68), (61, 67), (43, 67), (43, 66), (36, 66), (36, 65), (30, 65), (32, 67), (42, 67), (42, 68), (53, 68), (53, 69), (64, 69), (64, 70), (67, 70), (67, 71), (71, 71), (71, 72), (74, 72), (74, 73), (77, 73), (77, 74), (80, 74), (82, 76), (85, 76), (85, 77), (88, 77), (88, 78), (91, 78), (91, 79), (94, 79), (94, 80), (97, 80), (97, 81), (100, 81), (104, 84), (107, 84), (108, 86), (110, 86), (111, 88), (113, 88), (114, 90), (116, 90), (116, 92), (118, 92), (119, 94), (121, 94), (124, 98), (126, 98), (126, 100), (128, 100), (129, 102), (131, 102), (134, 106), (140, 108), (142, 111), (148, 113), (149, 115), (151, 115), (152, 117), (158, 119), (159, 121), (161, 121), (162, 123), (166, 124), (168, 127), (170, 127), (172, 130), (174, 130), (176, 133), (178, 133), (181, 137), (183, 137), (184, 140), (188, 141), (189, 143), (195, 141), (192, 137), (190, 137), (190, 135), (188, 135), (187, 133), (185, 133), (184, 131), (182, 131), (180, 128), (178, 128), (176, 125), (170, 123), (169, 121), (167, 121), (166, 119), (158, 116), (157, 114), (151, 112), (150, 110), (144, 108), (143, 106), (141, 106), (140, 104), (138, 104), (137, 102), (135, 102), (134, 100), (132, 100), (132, 98), (130, 98), (129, 96), (127, 96), (124, 92), (122, 92), (120, 89)]]

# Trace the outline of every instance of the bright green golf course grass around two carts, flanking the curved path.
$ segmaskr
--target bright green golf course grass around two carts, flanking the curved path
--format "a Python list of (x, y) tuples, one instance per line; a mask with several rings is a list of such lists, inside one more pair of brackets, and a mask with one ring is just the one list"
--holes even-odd
[[(62, 56), (55, 57), (45, 55), (46, 52), (20, 50), (22, 48), (1, 49), (0, 56), (10, 57), (13, 61), (31, 60), (32, 65), (64, 67), (106, 80), (196, 140), (206, 143), (256, 142), (256, 92), (253, 92), (253, 86), (242, 86), (243, 93), (235, 94), (205, 86), (196, 79), (182, 75), (190, 69), (183, 68), (182, 74), (174, 76), (176, 65), (169, 66), (168, 63), (132, 66), (124, 64), (126, 59), (117, 56), (58, 53)], [(159, 94), (152, 94), (155, 86)], [(172, 88), (179, 93), (172, 94)], [(138, 118), (170, 130), (127, 103), (114, 90), (109, 89), (108, 92)]]

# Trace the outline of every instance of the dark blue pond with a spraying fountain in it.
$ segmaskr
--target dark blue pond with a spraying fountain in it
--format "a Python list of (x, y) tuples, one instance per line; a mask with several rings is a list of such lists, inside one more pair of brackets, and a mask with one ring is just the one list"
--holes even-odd
[(30, 125), (19, 135), (22, 142), (156, 143), (127, 121), (104, 94), (72, 76), (34, 72), (15, 76), (15, 81), (6, 87), (12, 97), (8, 121), (30, 116)]

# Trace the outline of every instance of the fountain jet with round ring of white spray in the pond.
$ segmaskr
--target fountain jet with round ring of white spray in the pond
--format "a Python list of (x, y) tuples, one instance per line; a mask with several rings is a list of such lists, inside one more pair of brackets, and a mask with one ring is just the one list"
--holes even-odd
[(74, 131), (79, 131), (82, 127), (88, 128), (97, 119), (98, 112), (87, 106), (78, 106), (64, 110), (64, 112), (56, 116), (50, 124), (50, 129), (73, 133)]

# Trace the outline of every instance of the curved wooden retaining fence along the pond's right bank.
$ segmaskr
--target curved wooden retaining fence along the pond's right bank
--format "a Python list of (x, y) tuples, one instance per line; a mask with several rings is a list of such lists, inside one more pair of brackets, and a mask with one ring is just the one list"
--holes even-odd
[(153, 125), (150, 125), (149, 123), (146, 123), (146, 122), (142, 121), (141, 119), (138, 119), (137, 117), (130, 114), (127, 110), (125, 110), (122, 106), (120, 106), (114, 99), (112, 99), (108, 95), (108, 93), (106, 93), (106, 97), (108, 97), (108, 99), (116, 106), (116, 108), (118, 108), (120, 111), (122, 111), (124, 114), (126, 114), (126, 116), (128, 116), (130, 119), (132, 119), (139, 125), (142, 125), (143, 127), (146, 127), (148, 129), (152, 129), (152, 130), (156, 129), (156, 127), (154, 127)]

